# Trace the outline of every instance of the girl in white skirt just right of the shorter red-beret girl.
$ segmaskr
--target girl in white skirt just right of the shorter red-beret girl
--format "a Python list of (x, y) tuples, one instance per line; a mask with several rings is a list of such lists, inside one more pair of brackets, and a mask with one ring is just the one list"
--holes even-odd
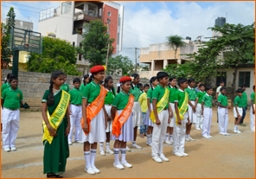
[[(135, 97), (134, 105), (133, 105), (133, 108), (132, 108), (134, 139), (132, 141), (131, 147), (136, 148), (136, 149), (142, 149), (141, 146), (138, 146), (138, 144), (136, 144), (137, 130), (138, 130), (138, 127), (140, 125), (142, 125), (142, 122), (143, 122), (141, 106), (139, 105), (139, 102), (138, 102), (139, 95), (141, 94), (140, 89), (138, 88), (139, 75), (138, 74), (131, 74), (131, 77), (132, 77), (131, 78), (132, 82), (131, 82), (131, 90), (130, 90), (129, 93), (131, 93)], [(131, 150), (131, 149), (129, 149), (128, 146), (126, 146), (126, 147), (127, 147), (127, 150)]]

